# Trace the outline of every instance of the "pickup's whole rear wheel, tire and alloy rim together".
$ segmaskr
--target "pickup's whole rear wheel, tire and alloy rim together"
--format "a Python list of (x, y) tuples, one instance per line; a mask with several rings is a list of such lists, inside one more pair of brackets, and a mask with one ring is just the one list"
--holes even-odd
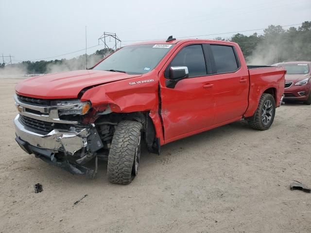
[(257, 110), (247, 119), (248, 124), (255, 130), (267, 130), (273, 123), (276, 114), (276, 102), (272, 95), (263, 93), (260, 97)]

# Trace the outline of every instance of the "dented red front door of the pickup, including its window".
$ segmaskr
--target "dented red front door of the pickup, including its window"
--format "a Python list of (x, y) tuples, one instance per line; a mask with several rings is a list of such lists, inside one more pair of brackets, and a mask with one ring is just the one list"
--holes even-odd
[[(175, 52), (160, 71), (161, 116), (166, 142), (192, 134), (214, 122), (213, 82), (207, 75), (205, 53), (201, 44), (185, 44)], [(169, 67), (186, 66), (189, 78), (172, 88), (166, 81)]]

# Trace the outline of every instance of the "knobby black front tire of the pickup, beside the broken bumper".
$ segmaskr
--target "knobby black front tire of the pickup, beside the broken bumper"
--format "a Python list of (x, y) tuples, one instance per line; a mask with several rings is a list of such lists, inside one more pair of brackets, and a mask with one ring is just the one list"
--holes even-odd
[(134, 162), (138, 149), (140, 153), (141, 129), (141, 123), (129, 120), (116, 126), (108, 156), (107, 173), (111, 183), (128, 184), (137, 175)]

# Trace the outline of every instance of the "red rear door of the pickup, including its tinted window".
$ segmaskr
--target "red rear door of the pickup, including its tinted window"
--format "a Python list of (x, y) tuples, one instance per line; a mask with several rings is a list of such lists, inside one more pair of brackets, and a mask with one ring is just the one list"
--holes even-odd
[(248, 105), (249, 75), (233, 46), (210, 44), (214, 77), (215, 124), (242, 117)]

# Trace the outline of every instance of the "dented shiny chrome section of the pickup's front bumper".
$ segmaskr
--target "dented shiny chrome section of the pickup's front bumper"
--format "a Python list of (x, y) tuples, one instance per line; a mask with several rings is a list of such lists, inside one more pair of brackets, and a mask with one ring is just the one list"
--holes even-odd
[(52, 130), (50, 133), (41, 134), (30, 131), (19, 121), (19, 115), (14, 119), (16, 135), (19, 139), (30, 145), (51, 150), (52, 152), (63, 151), (66, 154), (73, 155), (76, 151), (87, 146), (87, 136), (90, 129), (81, 129), (79, 131)]

